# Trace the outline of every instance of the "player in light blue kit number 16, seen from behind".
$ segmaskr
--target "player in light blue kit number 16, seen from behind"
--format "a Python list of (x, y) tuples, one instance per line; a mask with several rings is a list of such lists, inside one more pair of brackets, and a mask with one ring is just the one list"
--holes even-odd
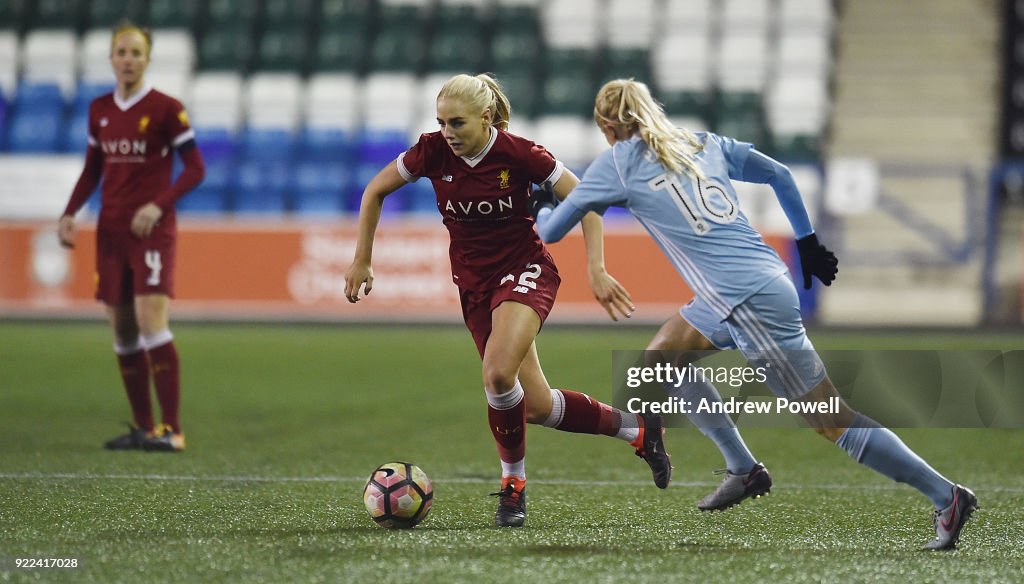
[[(629, 209), (696, 295), (662, 327), (648, 349), (738, 348), (752, 365), (769, 366), (767, 383), (781, 398), (838, 398), (807, 338), (785, 263), (751, 226), (730, 182), (774, 189), (798, 238), (804, 287), (810, 287), (811, 276), (828, 285), (838, 272), (836, 256), (818, 243), (788, 169), (753, 144), (674, 127), (647, 87), (633, 80), (605, 84), (594, 117), (611, 149), (557, 207), (536, 197), (541, 238), (560, 240), (589, 211)], [(685, 384), (683, 392), (691, 403), (694, 398), (721, 400), (707, 381)], [(936, 508), (936, 537), (925, 548), (953, 549), (978, 506), (974, 493), (939, 474), (888, 428), (840, 404), (838, 413), (805, 418), (857, 462), (927, 496)], [(691, 420), (715, 441), (729, 467), (719, 489), (698, 505), (701, 509), (724, 509), (768, 491), (767, 471), (727, 416)]]

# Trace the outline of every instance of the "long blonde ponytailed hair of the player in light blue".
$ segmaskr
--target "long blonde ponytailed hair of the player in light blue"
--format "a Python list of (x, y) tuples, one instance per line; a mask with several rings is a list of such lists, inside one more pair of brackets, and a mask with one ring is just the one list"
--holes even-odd
[(654, 153), (658, 162), (677, 174), (703, 178), (696, 155), (703, 144), (693, 132), (672, 125), (650, 89), (633, 79), (615, 79), (605, 83), (594, 99), (594, 120), (624, 128)]

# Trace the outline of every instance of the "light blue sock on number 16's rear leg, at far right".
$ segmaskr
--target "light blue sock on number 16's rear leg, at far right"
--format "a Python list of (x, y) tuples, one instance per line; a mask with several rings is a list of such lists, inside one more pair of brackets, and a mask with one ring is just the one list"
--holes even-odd
[(857, 462), (921, 491), (936, 509), (952, 503), (954, 485), (907, 448), (892, 430), (867, 416), (857, 414), (853, 427), (847, 428), (836, 444)]

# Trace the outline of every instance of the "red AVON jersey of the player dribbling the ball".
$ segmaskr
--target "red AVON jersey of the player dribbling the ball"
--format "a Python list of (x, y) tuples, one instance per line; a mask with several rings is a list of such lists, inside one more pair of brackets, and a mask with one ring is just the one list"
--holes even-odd
[(457, 156), (439, 131), (422, 134), (398, 157), (413, 182), (430, 179), (452, 244), (452, 278), (464, 290), (484, 290), (547, 250), (529, 214), (531, 183), (557, 182), (564, 166), (544, 147), (492, 129), (474, 158)]

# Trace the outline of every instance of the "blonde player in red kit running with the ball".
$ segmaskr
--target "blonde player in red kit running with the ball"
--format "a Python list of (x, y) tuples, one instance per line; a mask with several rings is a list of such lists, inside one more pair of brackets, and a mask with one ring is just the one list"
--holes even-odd
[[(440, 130), (419, 141), (370, 181), (359, 208), (355, 257), (345, 294), (359, 299), (373, 288), (374, 234), (384, 198), (427, 177), (452, 239), (452, 276), (463, 318), (483, 361), (487, 420), (502, 464), (495, 522), (520, 527), (526, 516), (525, 423), (606, 434), (629, 442), (666, 488), (672, 466), (657, 416), (639, 418), (586, 394), (553, 389), (534, 339), (555, 300), (560, 278), (534, 230), (530, 184), (550, 182), (564, 197), (579, 179), (543, 147), (507, 131), (508, 98), (492, 77), (457, 75), (437, 96)], [(604, 269), (601, 222), (584, 219), (595, 297), (612, 319), (632, 314), (626, 290)]]

